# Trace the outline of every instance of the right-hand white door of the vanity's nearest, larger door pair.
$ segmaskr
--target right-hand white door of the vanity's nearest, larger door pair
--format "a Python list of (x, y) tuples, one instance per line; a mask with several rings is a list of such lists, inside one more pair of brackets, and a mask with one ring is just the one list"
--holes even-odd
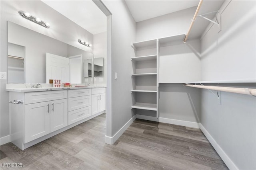
[(68, 125), (68, 99), (50, 102), (50, 132)]

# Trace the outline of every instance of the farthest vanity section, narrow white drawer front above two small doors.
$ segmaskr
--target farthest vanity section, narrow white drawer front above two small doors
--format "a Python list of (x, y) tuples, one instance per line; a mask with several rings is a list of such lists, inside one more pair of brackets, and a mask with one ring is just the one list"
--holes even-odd
[(106, 88), (92, 89), (92, 115), (106, 110)]

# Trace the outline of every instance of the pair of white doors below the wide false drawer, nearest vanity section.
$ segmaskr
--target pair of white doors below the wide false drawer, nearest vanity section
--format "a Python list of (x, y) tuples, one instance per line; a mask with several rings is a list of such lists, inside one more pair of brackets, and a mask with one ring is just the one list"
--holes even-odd
[(25, 143), (68, 125), (67, 99), (25, 104)]

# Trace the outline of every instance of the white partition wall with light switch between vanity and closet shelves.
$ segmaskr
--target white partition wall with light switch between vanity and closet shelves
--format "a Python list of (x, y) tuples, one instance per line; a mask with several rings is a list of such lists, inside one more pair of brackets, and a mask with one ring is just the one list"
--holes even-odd
[[(111, 41), (111, 49), (108, 49), (107, 82), (107, 136), (113, 137), (133, 116), (130, 108), (131, 98), (131, 57), (133, 49), (131, 43), (135, 41), (136, 23), (132, 18), (124, 1), (103, 1), (110, 10), (112, 16), (112, 30), (108, 27), (108, 42)], [(109, 53), (111, 52), (111, 54)], [(118, 80), (114, 80), (114, 72), (118, 73)], [(111, 74), (111, 75), (110, 75)]]

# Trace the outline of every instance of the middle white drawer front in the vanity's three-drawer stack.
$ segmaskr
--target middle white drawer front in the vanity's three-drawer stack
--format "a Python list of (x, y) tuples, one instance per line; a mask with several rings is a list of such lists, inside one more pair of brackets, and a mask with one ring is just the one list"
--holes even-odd
[(91, 96), (68, 98), (68, 111), (91, 106)]

